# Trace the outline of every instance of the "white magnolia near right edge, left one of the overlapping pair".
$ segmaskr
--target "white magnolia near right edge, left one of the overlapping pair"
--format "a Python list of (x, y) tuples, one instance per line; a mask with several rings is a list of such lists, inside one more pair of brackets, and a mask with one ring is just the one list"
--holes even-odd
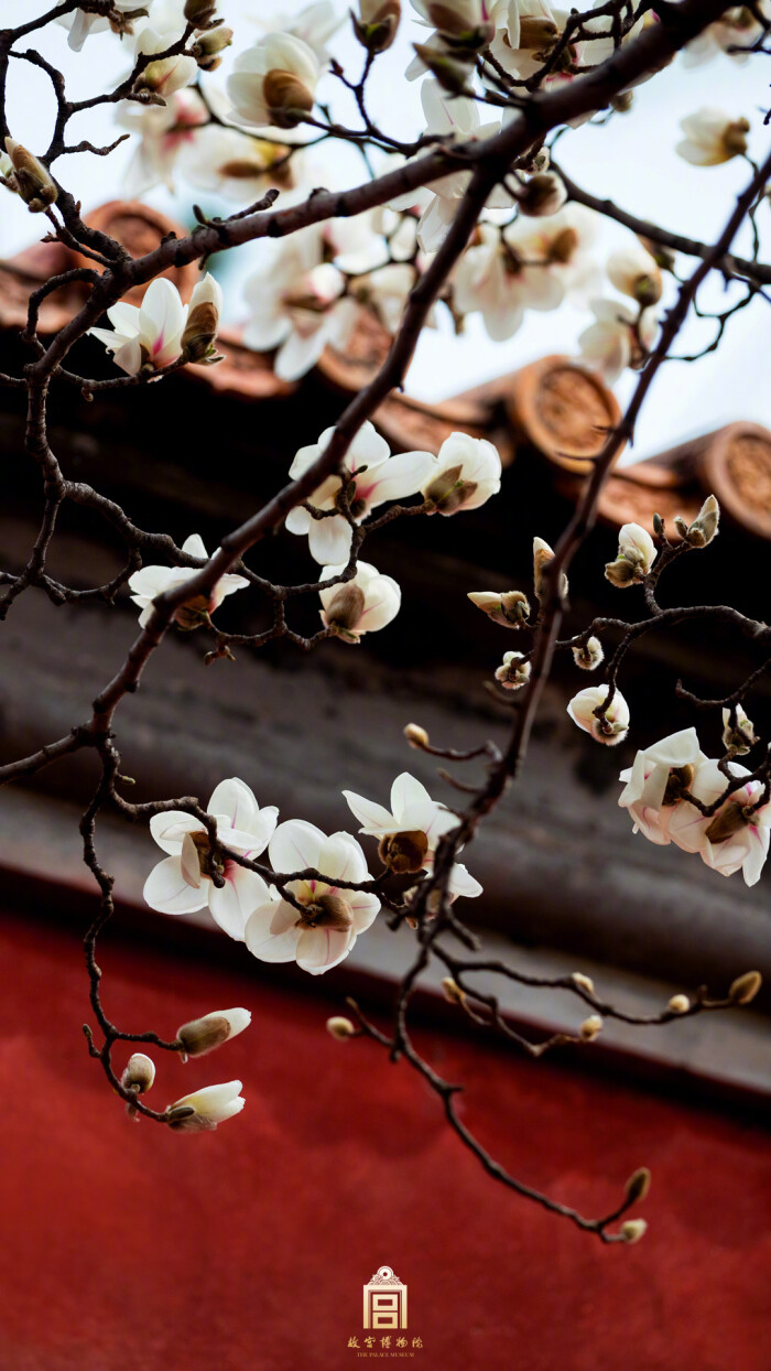
[(624, 781), (619, 805), (629, 809), (635, 834), (641, 831), (659, 846), (671, 842), (670, 821), (677, 806), (696, 813), (692, 805), (683, 805), (682, 797), (705, 761), (696, 728), (683, 728), (638, 751), (633, 765), (619, 776)]

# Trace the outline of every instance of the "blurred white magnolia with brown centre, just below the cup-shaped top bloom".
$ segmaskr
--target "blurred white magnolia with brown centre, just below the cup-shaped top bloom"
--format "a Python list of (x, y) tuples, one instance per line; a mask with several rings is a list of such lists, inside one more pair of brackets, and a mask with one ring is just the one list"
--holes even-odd
[[(238, 129), (207, 123), (193, 137), (188, 136), (182, 174), (201, 191), (252, 204), (268, 186), (292, 189), (300, 154), (286, 162), (288, 154), (289, 148), (279, 143), (266, 143)], [(290, 197), (281, 203), (290, 203)]]

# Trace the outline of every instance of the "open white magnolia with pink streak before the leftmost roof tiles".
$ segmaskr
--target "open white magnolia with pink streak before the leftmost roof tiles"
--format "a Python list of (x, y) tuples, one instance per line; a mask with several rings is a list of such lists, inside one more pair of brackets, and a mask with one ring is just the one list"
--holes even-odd
[(193, 288), (190, 303), (182, 304), (179, 291), (166, 276), (148, 285), (141, 306), (121, 300), (107, 311), (112, 329), (89, 329), (112, 352), (115, 365), (129, 376), (142, 367), (160, 370), (182, 354), (188, 315), (203, 304), (222, 313), (222, 288), (207, 271)]

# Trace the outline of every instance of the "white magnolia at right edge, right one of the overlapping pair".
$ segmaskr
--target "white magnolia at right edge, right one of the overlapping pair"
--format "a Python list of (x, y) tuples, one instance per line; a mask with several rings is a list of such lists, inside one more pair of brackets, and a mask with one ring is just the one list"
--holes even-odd
[[(750, 775), (738, 762), (729, 762), (727, 771), (734, 779)], [(718, 762), (705, 761), (697, 768), (689, 790), (703, 805), (713, 805), (726, 786)], [(734, 790), (712, 817), (693, 805), (678, 805), (670, 818), (670, 838), (683, 851), (697, 851), (707, 866), (722, 876), (733, 876), (741, 868), (746, 884), (755, 886), (768, 854), (771, 829), (771, 802), (759, 805), (761, 795), (763, 783), (749, 780)]]

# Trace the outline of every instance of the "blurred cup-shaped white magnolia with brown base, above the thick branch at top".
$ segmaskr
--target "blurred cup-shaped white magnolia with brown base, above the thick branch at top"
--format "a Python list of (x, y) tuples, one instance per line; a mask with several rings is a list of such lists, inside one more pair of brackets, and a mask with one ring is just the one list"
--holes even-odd
[(268, 33), (236, 59), (227, 95), (244, 123), (292, 129), (314, 108), (319, 75), (307, 43), (290, 33)]

